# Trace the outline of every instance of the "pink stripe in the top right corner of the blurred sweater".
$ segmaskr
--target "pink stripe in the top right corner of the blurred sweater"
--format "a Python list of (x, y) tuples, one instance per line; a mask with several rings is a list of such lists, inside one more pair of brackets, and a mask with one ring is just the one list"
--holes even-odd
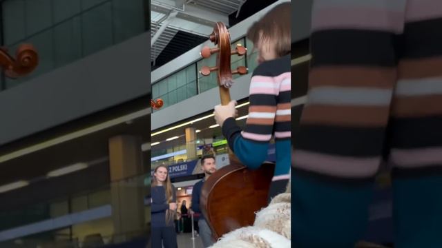
[(407, 21), (422, 21), (428, 19), (436, 19), (442, 17), (442, 1), (441, 0), (408, 0), (407, 13), (405, 19)]

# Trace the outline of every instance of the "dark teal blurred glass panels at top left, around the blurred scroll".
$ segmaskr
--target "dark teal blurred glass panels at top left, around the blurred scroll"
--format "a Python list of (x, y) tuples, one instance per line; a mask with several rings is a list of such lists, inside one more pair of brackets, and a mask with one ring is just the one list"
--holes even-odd
[(4, 88), (77, 61), (146, 30), (144, 0), (1, 1), (3, 41), (11, 54), (22, 43), (39, 53), (39, 65)]

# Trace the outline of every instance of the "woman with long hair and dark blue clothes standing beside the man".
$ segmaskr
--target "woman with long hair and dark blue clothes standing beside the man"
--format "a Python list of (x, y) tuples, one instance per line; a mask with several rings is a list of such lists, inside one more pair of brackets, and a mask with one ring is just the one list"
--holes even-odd
[(177, 209), (175, 188), (164, 165), (155, 168), (152, 176), (152, 248), (176, 248), (174, 219)]

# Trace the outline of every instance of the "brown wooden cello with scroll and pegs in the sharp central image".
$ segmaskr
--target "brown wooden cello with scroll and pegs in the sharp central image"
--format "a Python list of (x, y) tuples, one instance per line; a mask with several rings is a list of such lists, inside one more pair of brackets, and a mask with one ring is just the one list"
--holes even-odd
[[(217, 47), (204, 47), (201, 56), (209, 58), (216, 53), (217, 65), (202, 67), (200, 74), (208, 76), (211, 72), (217, 72), (221, 104), (227, 105), (231, 101), (229, 88), (233, 85), (232, 74), (247, 74), (244, 66), (231, 70), (231, 55), (242, 56), (247, 49), (237, 45), (231, 51), (229, 31), (222, 22), (215, 24), (209, 39)], [(204, 182), (200, 207), (215, 240), (239, 227), (253, 225), (255, 212), (267, 205), (273, 170), (271, 163), (261, 165), (260, 169), (247, 169), (230, 154), (230, 165), (222, 167)]]

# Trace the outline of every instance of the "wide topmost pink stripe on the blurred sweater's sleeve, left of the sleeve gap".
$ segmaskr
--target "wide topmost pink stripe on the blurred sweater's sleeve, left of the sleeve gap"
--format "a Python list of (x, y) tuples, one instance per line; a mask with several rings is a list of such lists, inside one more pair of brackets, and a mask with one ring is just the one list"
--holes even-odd
[(352, 28), (402, 32), (404, 14), (367, 8), (318, 8), (311, 21), (312, 30)]

